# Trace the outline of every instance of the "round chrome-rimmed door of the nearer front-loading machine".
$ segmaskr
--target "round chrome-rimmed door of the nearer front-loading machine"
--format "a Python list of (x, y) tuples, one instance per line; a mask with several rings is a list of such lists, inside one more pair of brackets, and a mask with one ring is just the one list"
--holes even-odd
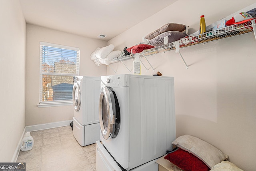
[(102, 87), (99, 102), (100, 131), (104, 139), (115, 138), (120, 129), (120, 107), (115, 91)]

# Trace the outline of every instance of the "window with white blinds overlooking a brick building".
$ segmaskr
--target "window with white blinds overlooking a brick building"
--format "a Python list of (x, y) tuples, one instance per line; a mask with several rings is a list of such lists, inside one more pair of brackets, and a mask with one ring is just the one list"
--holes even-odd
[(79, 48), (40, 42), (39, 104), (72, 102), (73, 79), (79, 75), (79, 52)]

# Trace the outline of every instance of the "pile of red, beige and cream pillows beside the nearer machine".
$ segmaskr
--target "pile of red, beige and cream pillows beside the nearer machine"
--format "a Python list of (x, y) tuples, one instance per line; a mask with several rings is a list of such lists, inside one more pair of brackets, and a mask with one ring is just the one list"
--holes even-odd
[(164, 158), (185, 171), (242, 171), (233, 163), (225, 161), (228, 155), (211, 144), (193, 137), (182, 135), (172, 142), (178, 150)]

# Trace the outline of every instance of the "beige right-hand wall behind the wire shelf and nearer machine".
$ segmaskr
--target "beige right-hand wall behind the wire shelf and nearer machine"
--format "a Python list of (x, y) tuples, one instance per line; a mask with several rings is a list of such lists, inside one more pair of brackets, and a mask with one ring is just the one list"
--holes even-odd
[[(203, 14), (209, 25), (254, 3), (254, 0), (236, 3), (179, 0), (108, 44), (123, 50), (138, 44), (143, 36), (166, 23), (188, 25), (191, 34), (199, 29)], [(255, 47), (254, 34), (250, 33), (181, 49), (188, 70), (174, 51), (148, 57), (156, 68), (154, 72), (147, 73), (142, 66), (143, 75), (159, 71), (163, 76), (174, 76), (176, 136), (199, 137), (218, 147), (229, 155), (228, 160), (246, 171), (256, 168)], [(142, 62), (149, 68), (144, 59)], [(132, 69), (132, 60), (124, 63)], [(108, 67), (107, 75), (129, 74), (122, 63), (111, 65), (117, 72)]]

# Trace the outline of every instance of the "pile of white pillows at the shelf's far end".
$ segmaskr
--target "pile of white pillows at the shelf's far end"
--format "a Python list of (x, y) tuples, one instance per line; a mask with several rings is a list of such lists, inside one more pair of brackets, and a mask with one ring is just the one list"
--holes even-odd
[(94, 64), (100, 66), (101, 64), (108, 65), (110, 60), (118, 58), (121, 54), (120, 50), (114, 50), (114, 45), (110, 44), (103, 48), (96, 48), (90, 58), (93, 60)]

